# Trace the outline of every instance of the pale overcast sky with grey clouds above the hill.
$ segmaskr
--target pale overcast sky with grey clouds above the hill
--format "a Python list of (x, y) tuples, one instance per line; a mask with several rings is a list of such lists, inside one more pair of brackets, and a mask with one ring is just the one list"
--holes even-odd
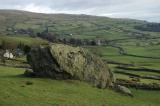
[(160, 0), (0, 0), (0, 9), (88, 14), (160, 22)]

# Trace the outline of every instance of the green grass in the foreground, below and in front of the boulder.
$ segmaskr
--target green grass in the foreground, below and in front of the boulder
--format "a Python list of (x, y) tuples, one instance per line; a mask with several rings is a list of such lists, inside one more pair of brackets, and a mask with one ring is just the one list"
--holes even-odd
[[(132, 89), (134, 97), (80, 81), (27, 78), (24, 69), (0, 66), (0, 106), (159, 106), (160, 91)], [(27, 85), (27, 82), (33, 84)]]

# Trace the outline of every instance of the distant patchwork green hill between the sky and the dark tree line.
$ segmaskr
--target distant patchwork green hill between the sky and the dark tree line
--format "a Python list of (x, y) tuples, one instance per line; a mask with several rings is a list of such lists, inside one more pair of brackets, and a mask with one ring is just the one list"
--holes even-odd
[[(1, 35), (34, 36), (38, 32), (48, 31), (62, 37), (117, 39), (150, 34), (152, 27), (148, 24), (150, 23), (146, 21), (90, 15), (41, 14), (18, 10), (0, 10)], [(155, 30), (154, 24), (156, 23), (152, 23), (153, 32), (158, 32), (159, 27), (156, 27)]]

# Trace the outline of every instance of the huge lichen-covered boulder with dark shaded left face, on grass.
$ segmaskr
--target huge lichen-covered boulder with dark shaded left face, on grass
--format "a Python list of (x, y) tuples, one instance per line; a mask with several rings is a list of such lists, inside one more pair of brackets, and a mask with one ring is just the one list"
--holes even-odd
[(113, 84), (113, 74), (99, 57), (80, 47), (50, 44), (31, 49), (27, 60), (36, 76), (77, 79), (99, 88)]

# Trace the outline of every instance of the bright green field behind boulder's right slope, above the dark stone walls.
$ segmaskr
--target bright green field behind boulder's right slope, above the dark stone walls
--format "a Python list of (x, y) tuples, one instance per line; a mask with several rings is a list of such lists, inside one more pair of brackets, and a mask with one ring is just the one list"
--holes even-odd
[[(104, 60), (116, 61), (121, 63), (128, 63), (133, 64), (140, 67), (146, 68), (153, 68), (153, 69), (160, 69), (160, 51), (159, 49), (151, 50), (151, 47), (136, 47), (136, 46), (121, 46), (124, 48), (125, 51), (129, 54), (134, 54), (137, 56), (129, 56), (129, 55), (122, 55), (119, 53), (119, 49), (110, 47), (110, 46), (86, 46), (85, 48), (89, 49), (91, 52), (99, 55)], [(154, 48), (154, 46), (153, 46)], [(156, 47), (158, 48), (158, 47)], [(155, 57), (152, 58), (145, 58), (145, 57), (138, 57), (138, 56), (148, 56), (148, 57)], [(156, 58), (157, 57), (157, 58)]]

